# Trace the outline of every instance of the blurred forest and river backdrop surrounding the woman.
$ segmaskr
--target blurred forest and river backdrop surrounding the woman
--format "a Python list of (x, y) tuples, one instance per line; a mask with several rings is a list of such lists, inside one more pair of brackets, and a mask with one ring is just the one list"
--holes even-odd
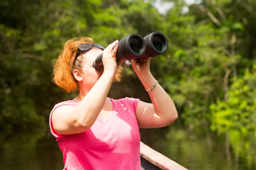
[[(256, 0), (1, 0), (0, 169), (61, 170), (49, 113), (73, 99), (52, 65), (73, 37), (103, 46), (160, 31), (151, 72), (179, 118), (141, 141), (189, 170), (256, 169)], [(151, 102), (131, 67), (109, 97)]]

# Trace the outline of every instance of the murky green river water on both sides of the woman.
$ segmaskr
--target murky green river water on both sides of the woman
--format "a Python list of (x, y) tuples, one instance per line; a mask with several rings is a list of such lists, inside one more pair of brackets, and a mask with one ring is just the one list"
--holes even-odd
[[(255, 170), (256, 138), (235, 140), (241, 146), (232, 149), (234, 135), (230, 135), (230, 160), (225, 152), (225, 140), (212, 133), (198, 133), (176, 128), (141, 130), (141, 140), (163, 155), (189, 170)], [(49, 132), (23, 133), (1, 138), (1, 170), (62, 170), (64, 167), (58, 143)], [(233, 143), (233, 145), (232, 145)], [(239, 146), (240, 146), (239, 145)]]

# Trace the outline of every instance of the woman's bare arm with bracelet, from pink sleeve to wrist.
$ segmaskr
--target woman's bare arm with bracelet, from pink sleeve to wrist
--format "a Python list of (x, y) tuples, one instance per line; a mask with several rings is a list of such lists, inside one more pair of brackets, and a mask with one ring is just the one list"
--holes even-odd
[[(146, 89), (155, 85), (156, 79), (152, 74), (139, 77)], [(174, 122), (177, 110), (170, 96), (157, 83), (153, 91), (148, 92), (152, 103), (140, 101), (136, 109), (136, 117), (140, 128), (164, 127)]]

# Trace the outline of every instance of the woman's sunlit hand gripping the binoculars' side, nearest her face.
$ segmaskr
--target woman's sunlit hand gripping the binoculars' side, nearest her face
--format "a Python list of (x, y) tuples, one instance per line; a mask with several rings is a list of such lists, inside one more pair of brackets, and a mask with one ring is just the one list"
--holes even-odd
[(119, 66), (122, 62), (116, 62), (116, 51), (118, 49), (118, 40), (108, 45), (107, 48), (103, 50), (102, 62), (104, 66), (104, 72), (116, 74)]

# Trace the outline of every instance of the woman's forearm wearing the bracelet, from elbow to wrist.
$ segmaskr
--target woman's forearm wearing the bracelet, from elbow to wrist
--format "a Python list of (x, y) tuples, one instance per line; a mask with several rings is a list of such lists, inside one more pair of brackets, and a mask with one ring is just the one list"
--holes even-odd
[[(157, 82), (150, 72), (139, 78), (145, 89), (152, 88)], [(151, 98), (152, 104), (154, 105), (154, 110), (161, 119), (170, 121), (177, 119), (177, 110), (175, 105), (160, 84), (157, 83), (154, 90), (149, 91), (148, 94)]]

